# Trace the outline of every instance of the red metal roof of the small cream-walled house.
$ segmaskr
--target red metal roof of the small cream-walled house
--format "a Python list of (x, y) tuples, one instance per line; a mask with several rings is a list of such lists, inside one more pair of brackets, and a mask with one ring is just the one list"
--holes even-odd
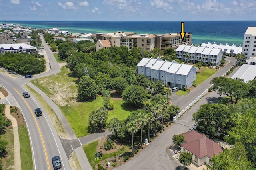
[(200, 159), (205, 156), (212, 158), (214, 154), (219, 155), (223, 151), (220, 145), (197, 131), (192, 130), (181, 135), (185, 136), (186, 142), (181, 146)]

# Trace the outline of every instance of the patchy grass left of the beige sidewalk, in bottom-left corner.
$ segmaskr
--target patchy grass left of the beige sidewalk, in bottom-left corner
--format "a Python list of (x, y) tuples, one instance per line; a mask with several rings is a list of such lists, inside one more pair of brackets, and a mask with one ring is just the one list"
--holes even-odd
[[(3, 170), (14, 170), (14, 139), (13, 139), (13, 132), (12, 129), (6, 129), (5, 133), (1, 135), (1, 139), (8, 141), (6, 146), (6, 152), (8, 156), (3, 165)], [(29, 148), (30, 149), (30, 148)], [(20, 153), (22, 155), (22, 152)]]

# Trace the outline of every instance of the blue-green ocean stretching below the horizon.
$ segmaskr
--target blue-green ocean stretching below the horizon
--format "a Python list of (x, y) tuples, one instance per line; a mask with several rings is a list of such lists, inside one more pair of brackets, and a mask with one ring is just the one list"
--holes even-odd
[[(116, 31), (164, 34), (181, 31), (181, 21), (0, 21), (38, 29), (57, 27), (76, 33), (110, 33)], [(184, 21), (185, 32), (192, 33), (192, 43), (222, 43), (242, 46), (248, 27), (256, 21)]]

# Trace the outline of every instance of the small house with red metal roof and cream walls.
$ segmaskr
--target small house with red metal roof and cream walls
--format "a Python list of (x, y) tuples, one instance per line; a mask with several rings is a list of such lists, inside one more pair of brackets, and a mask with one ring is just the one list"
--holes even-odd
[(181, 145), (181, 152), (190, 152), (192, 162), (198, 166), (208, 164), (212, 166), (212, 156), (223, 152), (222, 147), (195, 130), (182, 133), (185, 137), (185, 143)]

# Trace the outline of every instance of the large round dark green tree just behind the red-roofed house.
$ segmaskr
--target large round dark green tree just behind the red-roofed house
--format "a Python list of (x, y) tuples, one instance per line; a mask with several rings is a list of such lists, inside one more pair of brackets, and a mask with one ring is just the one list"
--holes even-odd
[(219, 130), (223, 131), (229, 115), (225, 105), (212, 103), (202, 104), (192, 117), (198, 128), (215, 135)]

